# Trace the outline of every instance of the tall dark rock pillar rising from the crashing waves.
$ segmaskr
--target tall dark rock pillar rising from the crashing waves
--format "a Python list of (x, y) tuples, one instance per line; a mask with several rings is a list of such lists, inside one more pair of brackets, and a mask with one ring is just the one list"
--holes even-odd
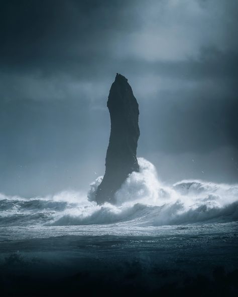
[(126, 77), (116, 74), (112, 83), (107, 107), (110, 113), (111, 131), (106, 152), (105, 175), (97, 188), (96, 201), (114, 203), (114, 194), (128, 175), (139, 171), (137, 142), (139, 107)]

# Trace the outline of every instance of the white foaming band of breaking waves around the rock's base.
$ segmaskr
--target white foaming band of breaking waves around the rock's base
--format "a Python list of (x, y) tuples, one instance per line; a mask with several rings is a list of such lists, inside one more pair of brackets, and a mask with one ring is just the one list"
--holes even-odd
[(0, 194), (0, 223), (161, 226), (238, 220), (238, 185), (184, 180), (169, 186), (158, 180), (149, 161), (139, 158), (138, 162), (140, 172), (133, 172), (117, 191), (116, 205), (96, 204), (99, 177), (88, 195), (65, 191), (24, 199)]

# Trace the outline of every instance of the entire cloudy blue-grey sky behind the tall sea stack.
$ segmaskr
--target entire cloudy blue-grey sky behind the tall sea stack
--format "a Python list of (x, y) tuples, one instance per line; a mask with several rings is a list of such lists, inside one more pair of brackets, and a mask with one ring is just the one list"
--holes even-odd
[(116, 72), (163, 182), (236, 183), (237, 16), (236, 0), (1, 0), (0, 192), (86, 191), (104, 174)]

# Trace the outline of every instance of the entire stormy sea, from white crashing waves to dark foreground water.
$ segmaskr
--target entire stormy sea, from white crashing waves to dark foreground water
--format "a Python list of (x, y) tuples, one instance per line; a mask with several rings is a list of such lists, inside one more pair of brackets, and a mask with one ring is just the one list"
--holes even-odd
[(94, 201), (101, 177), (87, 194), (1, 194), (2, 294), (236, 295), (238, 184), (165, 185), (138, 161), (116, 205)]

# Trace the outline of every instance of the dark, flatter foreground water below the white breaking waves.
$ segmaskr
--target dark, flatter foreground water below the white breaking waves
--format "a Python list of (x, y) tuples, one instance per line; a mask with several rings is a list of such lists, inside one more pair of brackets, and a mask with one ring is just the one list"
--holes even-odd
[(1, 227), (3, 294), (238, 292), (237, 222), (109, 229)]

